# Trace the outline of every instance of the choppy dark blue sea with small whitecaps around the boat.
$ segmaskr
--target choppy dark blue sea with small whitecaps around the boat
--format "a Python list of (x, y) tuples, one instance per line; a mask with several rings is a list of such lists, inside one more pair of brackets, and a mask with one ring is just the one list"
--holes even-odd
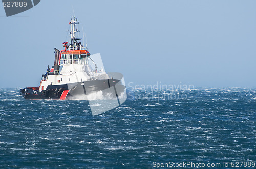
[(0, 89), (0, 167), (252, 168), (255, 122), (256, 89), (136, 90), (97, 116), (87, 101), (25, 100), (19, 89)]

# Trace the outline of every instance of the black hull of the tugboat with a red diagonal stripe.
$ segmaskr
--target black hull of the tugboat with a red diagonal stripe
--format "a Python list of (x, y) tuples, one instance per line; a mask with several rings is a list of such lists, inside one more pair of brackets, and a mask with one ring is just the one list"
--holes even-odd
[[(66, 92), (65, 92), (66, 91)], [(39, 88), (24, 88), (20, 89), (20, 95), (25, 99), (81, 99), (87, 100), (87, 96), (94, 97), (99, 92), (102, 96), (111, 97), (120, 96), (121, 92), (125, 91), (125, 86), (120, 80), (94, 80), (78, 83), (70, 83), (64, 85), (49, 85), (46, 90), (39, 91)]]

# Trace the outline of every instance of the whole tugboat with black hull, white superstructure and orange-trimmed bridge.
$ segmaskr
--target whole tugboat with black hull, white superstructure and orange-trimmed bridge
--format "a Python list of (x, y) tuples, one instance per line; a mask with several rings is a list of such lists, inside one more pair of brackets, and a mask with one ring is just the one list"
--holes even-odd
[(81, 38), (75, 35), (79, 32), (76, 28), (79, 24), (77, 18), (72, 17), (69, 24), (70, 42), (64, 42), (64, 49), (61, 51), (54, 48), (54, 65), (51, 69), (48, 66), (39, 87), (20, 89), (20, 95), (25, 99), (89, 100), (100, 94), (117, 99), (120, 105), (124, 102), (119, 100), (121, 96), (126, 100), (122, 74), (106, 73), (100, 54), (91, 55), (87, 45), (83, 46)]

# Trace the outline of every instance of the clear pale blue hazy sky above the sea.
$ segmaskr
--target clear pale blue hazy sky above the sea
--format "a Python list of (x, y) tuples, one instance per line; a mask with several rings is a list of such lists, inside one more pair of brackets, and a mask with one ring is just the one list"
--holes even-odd
[(126, 84), (256, 87), (254, 0), (54, 0), (10, 17), (0, 7), (0, 88), (39, 86), (72, 6), (89, 52)]

